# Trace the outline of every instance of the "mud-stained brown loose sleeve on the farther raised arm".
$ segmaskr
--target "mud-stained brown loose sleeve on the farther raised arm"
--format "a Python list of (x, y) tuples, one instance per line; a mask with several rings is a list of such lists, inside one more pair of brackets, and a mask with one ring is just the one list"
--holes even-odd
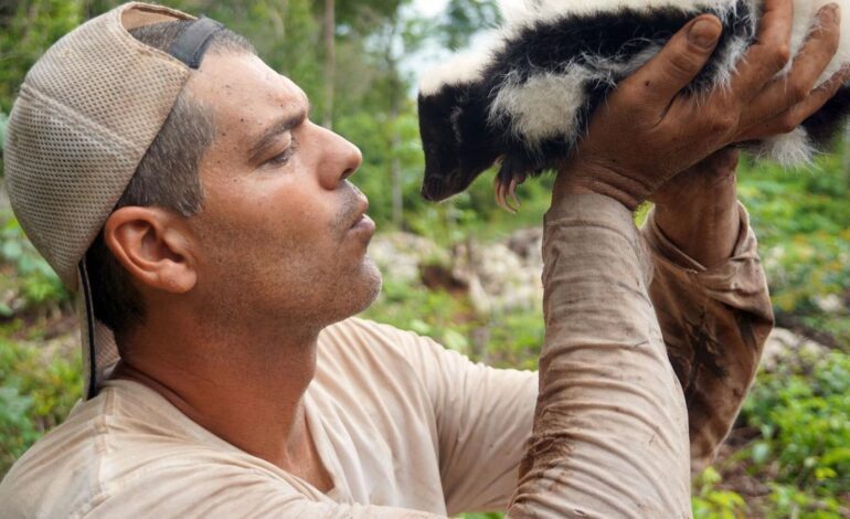
[(641, 230), (655, 264), (649, 294), (684, 390), (694, 470), (711, 463), (729, 434), (774, 322), (755, 234), (739, 208), (741, 232), (732, 257), (712, 268), (673, 245), (654, 213)]

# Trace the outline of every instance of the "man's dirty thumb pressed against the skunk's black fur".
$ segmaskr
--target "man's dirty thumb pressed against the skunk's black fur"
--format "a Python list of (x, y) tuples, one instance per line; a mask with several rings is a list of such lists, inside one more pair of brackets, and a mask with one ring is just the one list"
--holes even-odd
[(718, 45), (723, 27), (716, 17), (704, 14), (679, 30), (673, 38), (623, 86), (645, 89), (648, 107), (663, 110), (672, 98), (699, 74)]

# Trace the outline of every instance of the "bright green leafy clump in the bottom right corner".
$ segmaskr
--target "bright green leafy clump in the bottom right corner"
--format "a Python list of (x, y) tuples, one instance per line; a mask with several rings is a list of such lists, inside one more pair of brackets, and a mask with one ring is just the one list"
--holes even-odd
[(743, 410), (761, 438), (744, 455), (783, 508), (838, 512), (850, 499), (850, 354), (830, 352), (763, 374)]

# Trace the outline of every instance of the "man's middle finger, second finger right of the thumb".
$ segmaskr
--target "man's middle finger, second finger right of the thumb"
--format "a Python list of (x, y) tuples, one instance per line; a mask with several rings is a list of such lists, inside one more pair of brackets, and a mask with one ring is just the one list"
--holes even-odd
[[(812, 31), (803, 50), (794, 59), (794, 67), (784, 77), (773, 80), (750, 104), (746, 119), (762, 120), (780, 114), (808, 98), (818, 77), (829, 65), (840, 39), (838, 6), (824, 7), (818, 28)], [(747, 127), (744, 120), (743, 127)]]

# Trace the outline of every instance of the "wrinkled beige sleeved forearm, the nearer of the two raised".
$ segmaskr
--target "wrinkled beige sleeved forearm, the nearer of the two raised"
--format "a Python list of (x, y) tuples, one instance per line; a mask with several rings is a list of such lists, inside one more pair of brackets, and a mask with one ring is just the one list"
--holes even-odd
[(687, 411), (630, 212), (565, 197), (543, 250), (540, 395), (510, 513), (689, 517)]

